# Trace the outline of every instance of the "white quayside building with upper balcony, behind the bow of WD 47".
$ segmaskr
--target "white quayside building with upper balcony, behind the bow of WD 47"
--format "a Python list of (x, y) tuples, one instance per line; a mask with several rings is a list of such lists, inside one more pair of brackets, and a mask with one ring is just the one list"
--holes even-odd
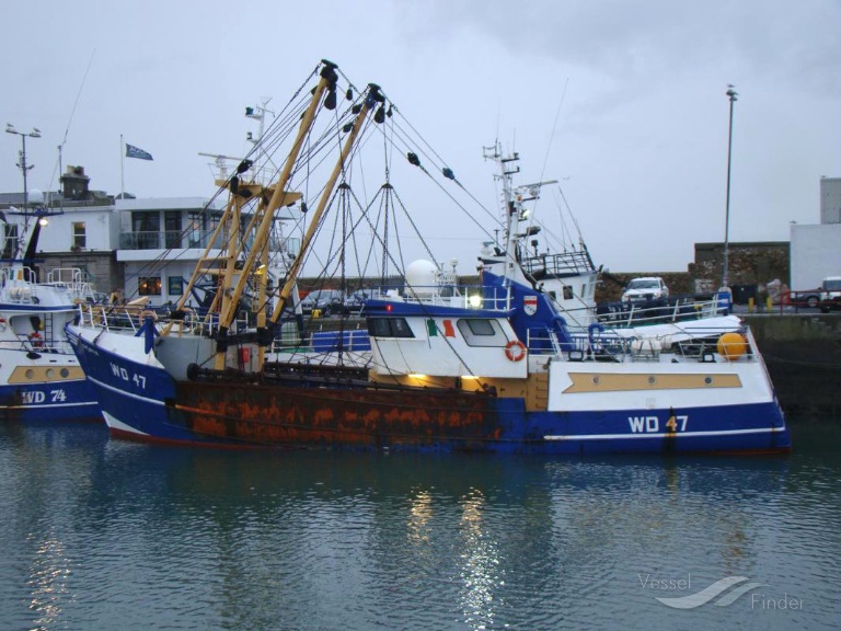
[[(5, 209), (5, 233), (23, 234), (25, 221), (45, 219), (38, 238), (36, 261), (42, 278), (55, 268), (79, 268), (103, 294), (120, 289), (127, 299), (148, 297), (150, 306), (177, 302), (193, 275), (228, 202), (227, 194), (204, 197), (117, 198), (89, 188), (90, 177), (81, 167), (68, 167), (61, 192), (30, 199), (23, 214), (23, 195), (0, 194)], [(13, 209), (13, 210), (12, 210)], [(283, 208), (270, 250), (269, 275), (284, 275), (283, 261), (297, 252), (300, 239), (287, 239), (283, 222), (300, 217), (298, 208)], [(219, 254), (211, 250), (208, 256)], [(189, 306), (198, 306), (198, 297)]]

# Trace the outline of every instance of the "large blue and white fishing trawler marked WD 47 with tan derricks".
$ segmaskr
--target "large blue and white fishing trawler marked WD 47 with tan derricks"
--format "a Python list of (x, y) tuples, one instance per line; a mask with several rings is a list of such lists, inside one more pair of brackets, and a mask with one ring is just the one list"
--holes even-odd
[[(127, 334), (82, 310), (67, 326), (114, 436), (506, 454), (790, 449), (748, 328), (715, 305), (708, 317), (693, 307), (646, 326), (600, 321), (588, 303), (591, 260), (579, 251), (566, 261), (540, 254), (523, 206), (530, 188), (512, 184), (507, 158), (496, 156), (500, 237), (485, 243), (479, 280), (459, 284), (431, 252), (402, 268), (403, 230), (422, 217), (398, 193), (399, 167), (460, 183), (446, 164), (426, 165), (437, 153), (412, 144), (414, 127), (380, 87), (359, 90), (329, 61), (304, 85), (278, 115), (277, 133), (219, 183), (229, 194), (212, 240), (222, 255), (210, 256), (208, 246), (189, 282), (218, 282), (208, 312), (197, 317), (178, 305), (170, 321), (147, 318)], [(286, 158), (272, 159), (269, 149), (280, 146)], [(368, 162), (361, 167), (365, 149), (384, 158), (376, 187), (357, 182), (372, 173)], [(276, 165), (270, 181), (257, 176), (257, 162)], [(306, 228), (274, 286), (264, 273), (268, 234), (274, 214), (287, 207), (300, 209)], [(366, 259), (352, 244), (360, 236), (381, 248), (382, 283), (362, 311), (370, 362), (343, 363), (336, 354), (325, 363), (280, 360), (272, 347), (295, 312), (306, 264), (344, 275), (352, 253)], [(312, 259), (319, 238), (337, 248)], [(575, 300), (585, 307), (580, 316), (569, 308)]]

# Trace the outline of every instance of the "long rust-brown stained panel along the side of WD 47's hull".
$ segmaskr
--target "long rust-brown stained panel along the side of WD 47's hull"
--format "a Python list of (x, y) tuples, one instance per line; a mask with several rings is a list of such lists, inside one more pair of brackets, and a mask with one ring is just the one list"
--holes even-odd
[(495, 398), (464, 391), (182, 382), (170, 410), (174, 423), (198, 435), (263, 445), (466, 447), (503, 437)]

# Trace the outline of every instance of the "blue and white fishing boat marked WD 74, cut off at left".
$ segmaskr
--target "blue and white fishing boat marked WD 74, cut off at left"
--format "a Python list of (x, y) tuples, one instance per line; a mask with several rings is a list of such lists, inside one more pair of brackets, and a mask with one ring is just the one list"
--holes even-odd
[[(93, 298), (92, 287), (79, 268), (53, 269), (41, 282), (34, 267), (38, 217), (7, 214), (0, 266), (0, 417), (99, 420), (93, 387), (65, 335), (79, 303)], [(14, 217), (21, 222), (13, 222)]]

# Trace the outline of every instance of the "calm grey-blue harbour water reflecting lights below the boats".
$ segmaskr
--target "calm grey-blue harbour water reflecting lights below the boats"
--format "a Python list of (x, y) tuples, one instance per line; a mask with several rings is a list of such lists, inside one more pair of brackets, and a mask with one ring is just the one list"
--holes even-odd
[(435, 457), (0, 424), (0, 628), (833, 629), (841, 426), (793, 440)]

